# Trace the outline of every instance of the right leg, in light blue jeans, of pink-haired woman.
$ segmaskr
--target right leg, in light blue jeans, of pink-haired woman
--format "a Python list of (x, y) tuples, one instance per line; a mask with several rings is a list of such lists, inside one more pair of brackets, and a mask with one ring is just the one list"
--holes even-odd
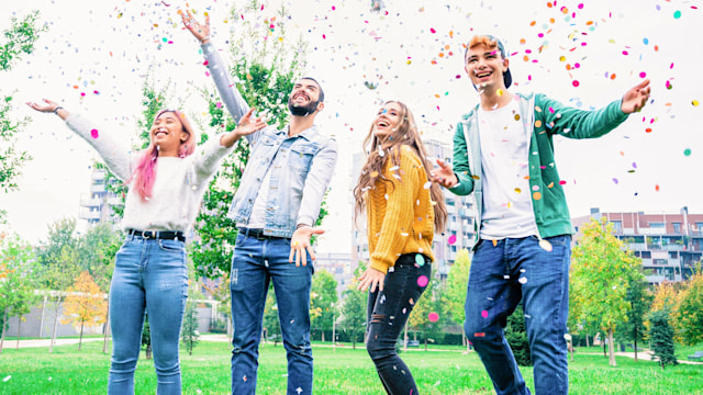
[(179, 240), (149, 240), (143, 271), (158, 395), (180, 395), (180, 328), (188, 298), (186, 247)]

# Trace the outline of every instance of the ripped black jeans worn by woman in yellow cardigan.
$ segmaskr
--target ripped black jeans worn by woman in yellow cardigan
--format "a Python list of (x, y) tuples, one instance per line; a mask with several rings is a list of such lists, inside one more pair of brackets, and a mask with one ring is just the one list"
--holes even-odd
[[(423, 261), (426, 263), (419, 264)], [(405, 253), (386, 274), (383, 291), (369, 292), (366, 349), (388, 394), (417, 395), (415, 380), (398, 357), (395, 342), (431, 275), (429, 259)]]

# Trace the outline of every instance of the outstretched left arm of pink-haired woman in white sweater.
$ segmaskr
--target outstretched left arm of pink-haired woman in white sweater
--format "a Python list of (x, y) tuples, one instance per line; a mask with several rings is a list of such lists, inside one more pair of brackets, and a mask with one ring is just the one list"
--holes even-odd
[(92, 122), (78, 115), (71, 115), (68, 110), (58, 105), (58, 103), (44, 99), (44, 104), (36, 102), (27, 102), (26, 104), (43, 113), (54, 113), (62, 120), (66, 121), (66, 125), (78, 134), (82, 139), (88, 142), (105, 161), (110, 171), (112, 171), (122, 181), (127, 180), (132, 176), (132, 160), (130, 155), (130, 146), (123, 139), (115, 138), (110, 132), (99, 128)]

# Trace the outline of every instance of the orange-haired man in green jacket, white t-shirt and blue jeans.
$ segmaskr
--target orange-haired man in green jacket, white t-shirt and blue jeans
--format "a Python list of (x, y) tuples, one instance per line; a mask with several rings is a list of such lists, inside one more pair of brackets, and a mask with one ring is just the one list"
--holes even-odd
[(573, 227), (555, 163), (555, 134), (600, 137), (641, 110), (644, 80), (598, 111), (566, 106), (542, 93), (507, 91), (503, 44), (471, 38), (465, 70), (480, 103), (454, 136), (454, 169), (437, 160), (434, 180), (458, 195), (473, 192), (476, 244), (464, 328), (498, 394), (529, 394), (503, 329), (523, 303), (537, 394), (567, 394), (569, 259)]

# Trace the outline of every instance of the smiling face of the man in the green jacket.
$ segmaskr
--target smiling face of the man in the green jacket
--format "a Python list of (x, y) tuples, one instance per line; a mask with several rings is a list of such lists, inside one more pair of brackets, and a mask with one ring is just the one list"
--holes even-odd
[(466, 54), (465, 70), (477, 89), (505, 89), (503, 74), (507, 71), (509, 60), (501, 56), (498, 45), (478, 43)]

